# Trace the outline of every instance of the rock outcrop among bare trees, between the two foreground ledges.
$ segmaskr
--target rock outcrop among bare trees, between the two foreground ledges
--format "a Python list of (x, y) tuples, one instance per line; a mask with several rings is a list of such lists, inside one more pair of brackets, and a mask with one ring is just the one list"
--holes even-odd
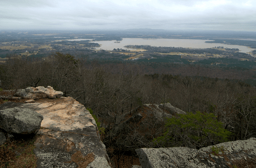
[[(175, 108), (170, 103), (166, 103), (165, 106), (163, 106), (163, 104), (144, 104), (131, 112), (126, 112), (118, 116), (116, 118), (116, 125), (118, 126), (114, 128), (113, 134), (117, 134), (117, 132), (132, 134), (129, 132), (129, 130), (131, 130), (131, 125), (136, 125), (137, 130), (143, 130), (143, 134), (148, 133), (152, 135), (152, 130), (155, 130), (158, 134), (161, 132), (160, 129), (164, 126), (164, 120), (166, 118), (171, 118), (175, 114), (186, 114), (186, 112)], [(149, 129), (148, 127), (150, 125), (152, 127)]]

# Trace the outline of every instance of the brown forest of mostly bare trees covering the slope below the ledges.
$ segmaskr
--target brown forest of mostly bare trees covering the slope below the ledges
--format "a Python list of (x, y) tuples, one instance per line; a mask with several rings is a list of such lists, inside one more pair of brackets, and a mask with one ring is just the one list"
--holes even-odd
[[(109, 157), (120, 162), (124, 155), (135, 157), (137, 148), (200, 148), (255, 137), (256, 88), (248, 84), (254, 75), (253, 69), (102, 62), (60, 52), (43, 59), (11, 54), (0, 64), (2, 93), (28, 86), (52, 86), (88, 108)], [(187, 112), (187, 118), (174, 114), (176, 121), (163, 118), (157, 122), (148, 107), (168, 102)], [(135, 112), (143, 114), (143, 123), (127, 122), (122, 131), (126, 116), (132, 117)], [(208, 131), (197, 129), (202, 128), (198, 124), (201, 120), (209, 126)], [(170, 124), (178, 122), (182, 123), (180, 128), (172, 130)]]

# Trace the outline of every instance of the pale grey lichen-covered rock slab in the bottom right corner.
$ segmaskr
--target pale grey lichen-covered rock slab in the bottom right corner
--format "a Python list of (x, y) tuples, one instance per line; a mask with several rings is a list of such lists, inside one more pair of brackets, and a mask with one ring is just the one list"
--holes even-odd
[[(213, 152), (213, 148), (218, 153)], [(254, 160), (252, 166), (256, 166), (256, 138), (224, 142), (200, 150), (140, 148), (136, 152), (142, 168), (234, 168), (246, 160)]]

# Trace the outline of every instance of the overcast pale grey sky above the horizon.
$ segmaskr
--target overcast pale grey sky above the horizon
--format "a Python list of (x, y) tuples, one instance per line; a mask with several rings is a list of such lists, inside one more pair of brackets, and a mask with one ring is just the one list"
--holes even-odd
[(0, 0), (0, 30), (256, 32), (256, 0)]

